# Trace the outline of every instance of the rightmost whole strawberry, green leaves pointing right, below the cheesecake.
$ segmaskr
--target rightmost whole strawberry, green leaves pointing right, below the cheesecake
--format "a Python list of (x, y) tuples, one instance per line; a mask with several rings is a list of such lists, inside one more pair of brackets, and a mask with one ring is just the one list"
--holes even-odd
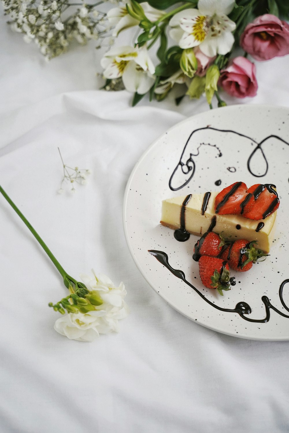
[(256, 263), (260, 257), (268, 255), (255, 248), (254, 244), (256, 241), (249, 242), (247, 239), (238, 239), (221, 253), (221, 259), (226, 260), (234, 271), (249, 271), (253, 263)]

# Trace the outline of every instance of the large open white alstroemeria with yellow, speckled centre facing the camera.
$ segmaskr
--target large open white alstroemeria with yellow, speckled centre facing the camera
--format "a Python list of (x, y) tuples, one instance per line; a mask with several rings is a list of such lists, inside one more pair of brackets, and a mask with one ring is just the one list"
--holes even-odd
[(199, 0), (198, 9), (176, 13), (169, 22), (170, 36), (181, 48), (199, 46), (208, 57), (227, 54), (233, 44), (234, 21), (227, 17), (234, 0)]

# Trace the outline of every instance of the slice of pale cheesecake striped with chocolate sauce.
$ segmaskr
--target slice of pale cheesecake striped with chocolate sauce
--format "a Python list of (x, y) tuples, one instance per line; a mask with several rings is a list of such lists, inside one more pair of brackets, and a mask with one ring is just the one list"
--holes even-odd
[(196, 236), (212, 230), (215, 233), (223, 232), (225, 238), (231, 236), (231, 241), (256, 240), (258, 248), (268, 253), (273, 242), (276, 212), (259, 221), (241, 215), (219, 215), (214, 211), (218, 193), (189, 194), (163, 200), (161, 224)]

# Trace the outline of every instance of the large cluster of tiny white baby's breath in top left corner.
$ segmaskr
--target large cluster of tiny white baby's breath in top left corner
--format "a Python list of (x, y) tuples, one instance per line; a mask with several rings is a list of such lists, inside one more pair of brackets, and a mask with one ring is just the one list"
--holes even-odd
[(11, 28), (23, 33), (25, 42), (33, 40), (46, 60), (65, 52), (73, 39), (84, 45), (90, 39), (102, 41), (110, 36), (106, 14), (94, 5), (76, 7), (68, 0), (2, 0), (2, 4)]

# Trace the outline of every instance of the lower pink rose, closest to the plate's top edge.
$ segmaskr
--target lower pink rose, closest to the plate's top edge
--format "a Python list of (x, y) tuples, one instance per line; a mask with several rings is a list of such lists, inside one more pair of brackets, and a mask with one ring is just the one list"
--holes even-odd
[(231, 96), (244, 98), (256, 96), (258, 84), (256, 67), (245, 57), (239, 56), (231, 60), (226, 69), (221, 71), (218, 84)]

